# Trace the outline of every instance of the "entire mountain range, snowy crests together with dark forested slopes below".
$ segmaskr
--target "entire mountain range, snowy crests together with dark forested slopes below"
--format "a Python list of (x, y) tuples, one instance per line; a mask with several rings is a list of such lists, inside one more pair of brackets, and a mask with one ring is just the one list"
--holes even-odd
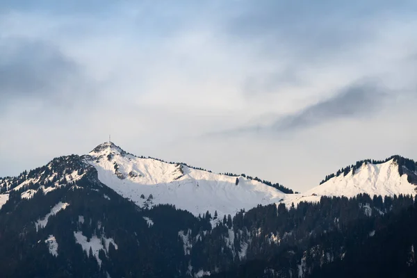
[[(357, 163), (321, 186), (342, 176), (366, 186), (357, 175), (373, 172), (375, 187), (401, 186), (398, 176), (414, 183), (416, 163), (392, 159)], [(366, 170), (373, 165), (379, 172)], [(1, 277), (304, 278), (347, 268), (354, 277), (415, 277), (411, 195), (286, 194), (268, 183), (133, 156), (109, 142), (54, 158), (0, 179)]]

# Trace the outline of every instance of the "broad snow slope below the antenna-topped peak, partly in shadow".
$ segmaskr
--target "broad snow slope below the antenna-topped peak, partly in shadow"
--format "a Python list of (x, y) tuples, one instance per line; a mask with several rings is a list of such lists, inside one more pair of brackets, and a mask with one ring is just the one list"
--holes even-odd
[(111, 142), (99, 145), (83, 159), (97, 169), (102, 183), (141, 207), (174, 204), (194, 215), (217, 211), (222, 217), (291, 196), (244, 177), (238, 177), (236, 185), (236, 177), (138, 158)]

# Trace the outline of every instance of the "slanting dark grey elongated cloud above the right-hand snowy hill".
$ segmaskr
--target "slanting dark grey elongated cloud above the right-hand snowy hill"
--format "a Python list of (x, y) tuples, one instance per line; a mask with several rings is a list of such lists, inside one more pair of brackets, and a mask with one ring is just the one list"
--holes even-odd
[(351, 85), (334, 97), (277, 120), (271, 128), (274, 131), (294, 131), (342, 118), (369, 115), (375, 113), (385, 98), (386, 92), (373, 84)]

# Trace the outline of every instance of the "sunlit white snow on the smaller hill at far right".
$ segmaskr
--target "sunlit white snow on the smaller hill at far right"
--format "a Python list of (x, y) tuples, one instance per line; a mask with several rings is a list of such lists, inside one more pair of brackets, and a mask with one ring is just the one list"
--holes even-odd
[(407, 181), (407, 174), (400, 177), (398, 164), (393, 161), (386, 163), (362, 165), (354, 173), (350, 171), (345, 177), (343, 174), (333, 177), (303, 195), (311, 196), (346, 196), (354, 197), (359, 193), (373, 195), (416, 195), (416, 186)]

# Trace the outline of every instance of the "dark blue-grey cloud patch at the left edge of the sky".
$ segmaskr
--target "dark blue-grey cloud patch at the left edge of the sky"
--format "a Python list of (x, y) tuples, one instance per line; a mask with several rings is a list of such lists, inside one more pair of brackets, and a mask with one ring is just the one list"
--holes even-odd
[(60, 49), (40, 40), (0, 40), (0, 98), (59, 100), (83, 85), (79, 66)]

